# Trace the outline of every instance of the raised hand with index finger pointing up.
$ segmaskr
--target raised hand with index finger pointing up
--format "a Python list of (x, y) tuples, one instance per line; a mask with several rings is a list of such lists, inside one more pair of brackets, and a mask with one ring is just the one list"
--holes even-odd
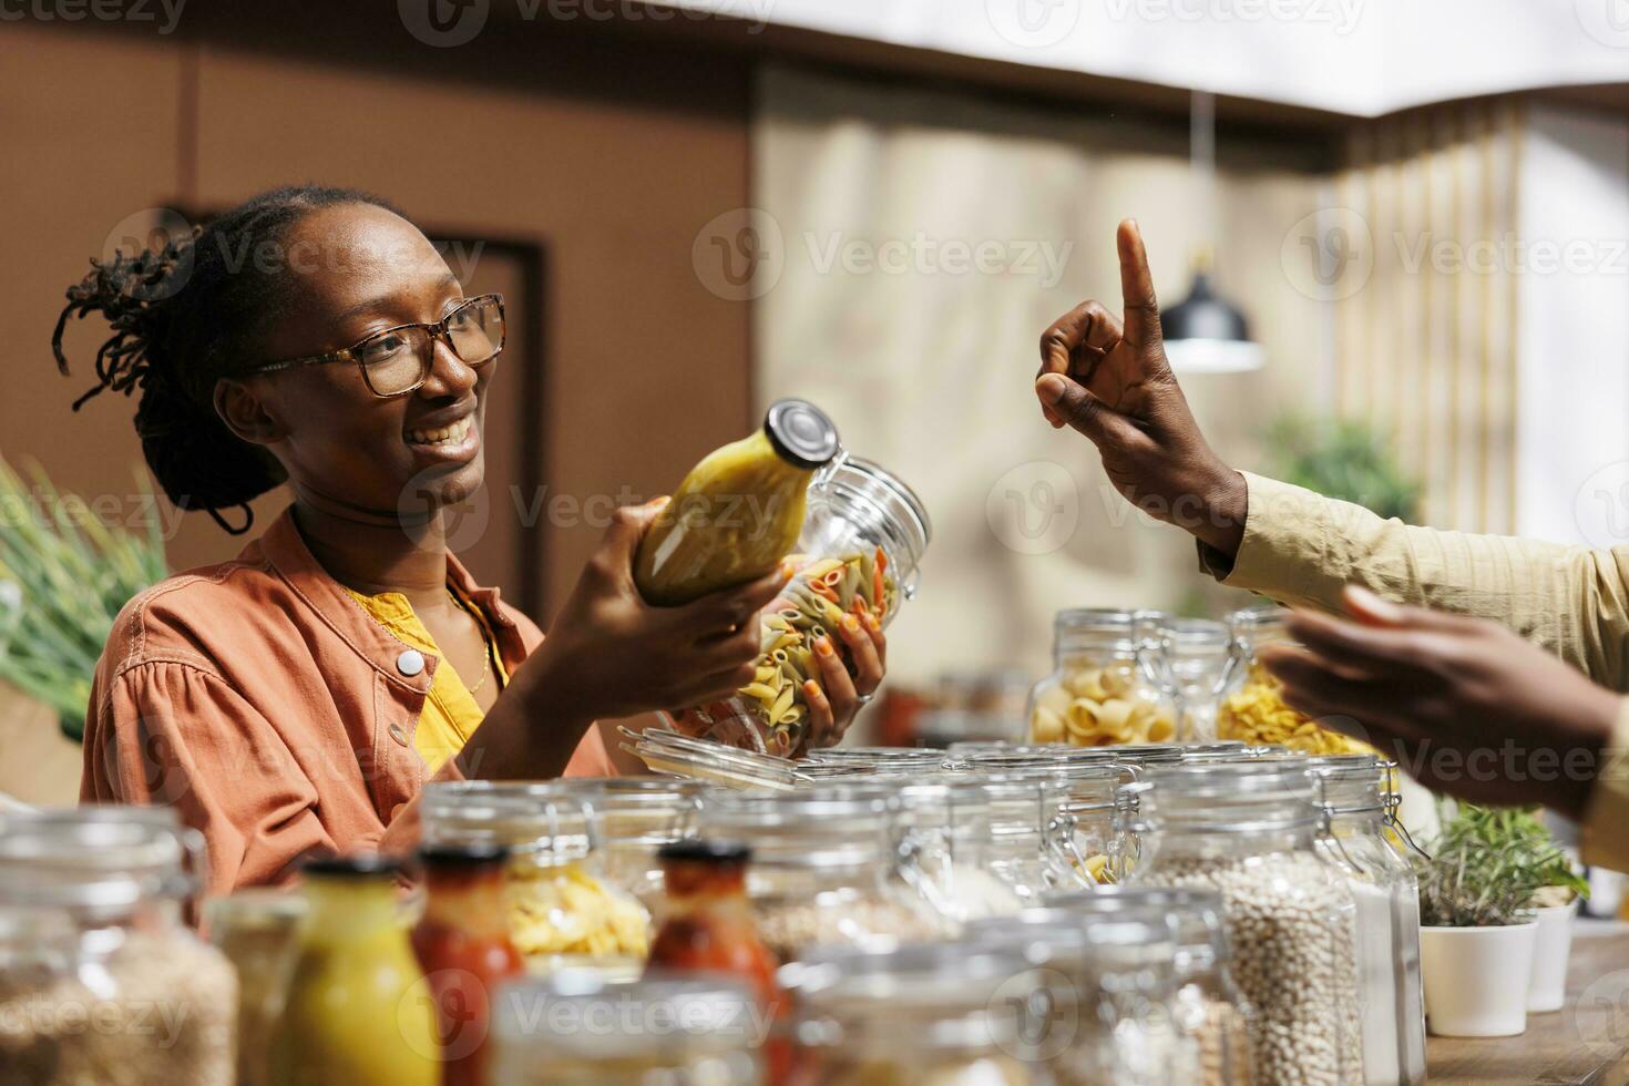
[(1232, 558), (1245, 534), (1245, 479), (1210, 451), (1171, 376), (1137, 223), (1121, 223), (1116, 244), (1124, 324), (1085, 301), (1041, 335), (1041, 410), (1098, 446), (1126, 500)]

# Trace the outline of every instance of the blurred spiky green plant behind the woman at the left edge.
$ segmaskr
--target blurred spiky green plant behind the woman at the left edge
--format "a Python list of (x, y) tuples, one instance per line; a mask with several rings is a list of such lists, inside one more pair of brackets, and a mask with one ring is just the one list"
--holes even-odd
[[(96, 659), (119, 609), (168, 575), (165, 541), (156, 516), (145, 534), (109, 528), (39, 467), (29, 475), (0, 461), (0, 679), (81, 739)], [(151, 498), (140, 474), (137, 487)]]

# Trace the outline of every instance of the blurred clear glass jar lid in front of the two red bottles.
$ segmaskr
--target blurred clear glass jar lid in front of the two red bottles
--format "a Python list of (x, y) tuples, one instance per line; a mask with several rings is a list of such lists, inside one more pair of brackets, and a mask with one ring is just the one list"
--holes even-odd
[[(647, 975), (608, 983), (583, 970), (518, 980), (495, 996), (498, 1060), (640, 1060), (744, 1052), (764, 1039), (753, 993), (725, 979)], [(525, 1063), (528, 1070), (542, 1065)], [(542, 1079), (539, 1079), (542, 1081)]]

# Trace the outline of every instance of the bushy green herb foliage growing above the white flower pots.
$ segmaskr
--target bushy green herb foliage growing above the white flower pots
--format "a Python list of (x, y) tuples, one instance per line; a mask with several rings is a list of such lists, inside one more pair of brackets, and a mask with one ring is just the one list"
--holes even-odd
[(1443, 821), (1419, 882), (1420, 923), (1438, 928), (1521, 923), (1549, 886), (1588, 894), (1536, 812), (1468, 803)]

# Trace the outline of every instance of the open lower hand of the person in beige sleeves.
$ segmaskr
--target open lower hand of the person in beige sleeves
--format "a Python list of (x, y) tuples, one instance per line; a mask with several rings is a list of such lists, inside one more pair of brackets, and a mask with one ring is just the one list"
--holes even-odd
[(1297, 612), (1262, 650), (1285, 700), (1473, 803), (1582, 819), (1621, 698), (1494, 622), (1346, 589), (1354, 622)]

